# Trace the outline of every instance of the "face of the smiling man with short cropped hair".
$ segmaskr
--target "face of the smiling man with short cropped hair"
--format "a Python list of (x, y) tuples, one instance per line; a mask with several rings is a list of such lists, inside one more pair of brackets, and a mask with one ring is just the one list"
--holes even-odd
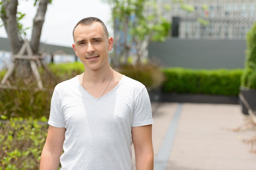
[(113, 39), (108, 38), (99, 22), (89, 26), (79, 24), (74, 30), (73, 48), (85, 68), (98, 70), (109, 65), (108, 51)]

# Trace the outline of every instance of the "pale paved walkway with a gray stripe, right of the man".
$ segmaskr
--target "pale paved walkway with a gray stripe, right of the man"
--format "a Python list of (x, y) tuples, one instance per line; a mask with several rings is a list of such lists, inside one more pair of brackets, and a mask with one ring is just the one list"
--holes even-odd
[(256, 170), (256, 154), (242, 142), (255, 131), (231, 131), (244, 124), (240, 105), (152, 103), (152, 110), (154, 170)]

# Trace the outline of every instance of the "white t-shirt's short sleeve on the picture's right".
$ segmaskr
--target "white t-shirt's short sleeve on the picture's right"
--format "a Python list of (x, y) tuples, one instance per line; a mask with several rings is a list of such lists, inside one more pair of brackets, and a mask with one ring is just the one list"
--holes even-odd
[(153, 124), (151, 103), (146, 87), (139, 93), (135, 100), (132, 116), (132, 127)]

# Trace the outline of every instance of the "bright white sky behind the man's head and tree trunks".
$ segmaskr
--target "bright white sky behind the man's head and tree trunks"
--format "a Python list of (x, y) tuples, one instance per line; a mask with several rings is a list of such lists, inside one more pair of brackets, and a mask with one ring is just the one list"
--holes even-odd
[[(25, 13), (21, 23), (25, 27), (32, 27), (36, 15), (34, 0), (19, 0), (18, 11)], [(110, 23), (111, 9), (102, 0), (52, 0), (47, 7), (40, 42), (58, 46), (72, 47), (72, 31), (77, 22), (85, 17), (98, 17), (112, 36)], [(0, 28), (0, 37), (7, 37), (6, 31)], [(27, 39), (31, 37), (31, 29), (27, 31)]]

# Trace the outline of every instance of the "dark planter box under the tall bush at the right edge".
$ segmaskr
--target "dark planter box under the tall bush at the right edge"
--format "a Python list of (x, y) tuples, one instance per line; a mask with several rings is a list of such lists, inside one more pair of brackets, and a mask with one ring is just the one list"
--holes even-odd
[[(240, 93), (243, 95), (249, 106), (253, 111), (256, 111), (256, 90), (240, 89)], [(248, 115), (248, 109), (243, 101), (240, 101), (242, 105), (242, 112)]]

